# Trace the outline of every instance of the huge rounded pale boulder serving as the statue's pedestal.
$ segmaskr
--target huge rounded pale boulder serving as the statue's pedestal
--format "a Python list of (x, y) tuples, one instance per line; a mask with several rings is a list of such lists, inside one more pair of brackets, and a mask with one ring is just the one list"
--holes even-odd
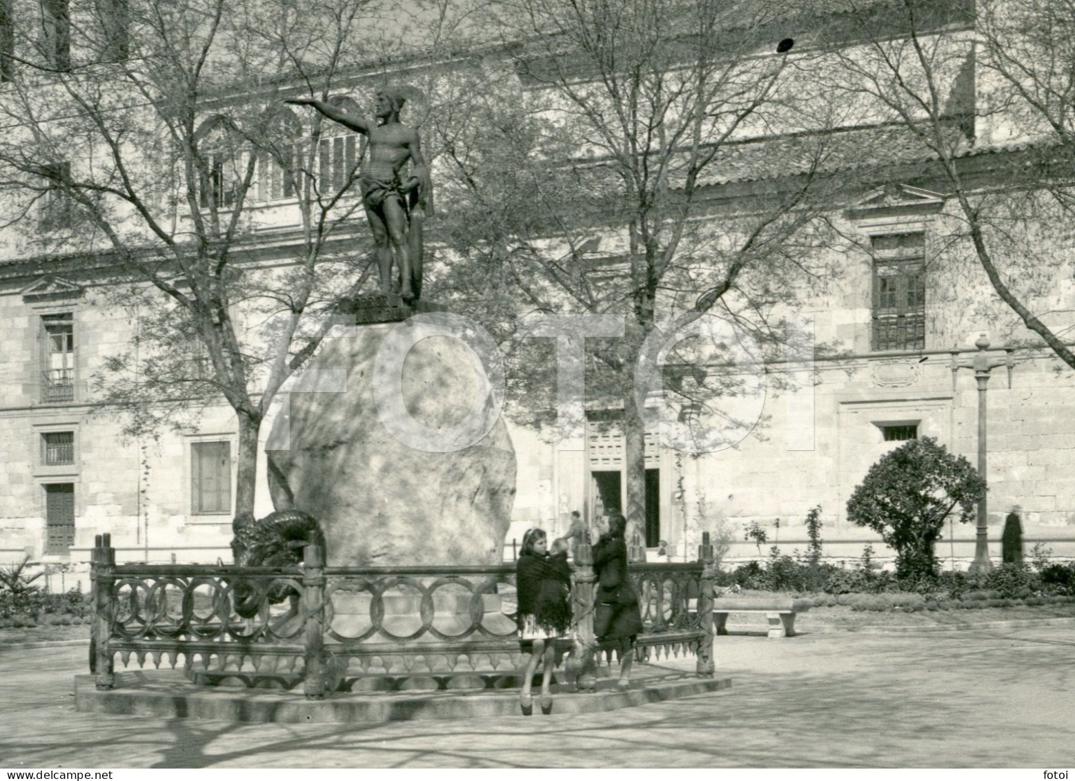
[[(441, 453), (399, 441), (377, 413), (377, 350), (392, 328), (410, 327), (359, 326), (354, 337), (326, 340), (300, 385), (318, 392), (291, 393), (289, 411), (273, 426), (269, 446), (289, 449), (268, 451), (270, 469), (287, 479), (295, 507), (320, 522), (329, 566), (502, 558), (515, 494), (515, 452), (503, 421), (476, 443)], [(488, 402), (483, 379), (462, 342), (430, 337), (406, 354), (402, 398), (416, 423), (446, 429)], [(287, 502), (274, 488), (276, 508)]]

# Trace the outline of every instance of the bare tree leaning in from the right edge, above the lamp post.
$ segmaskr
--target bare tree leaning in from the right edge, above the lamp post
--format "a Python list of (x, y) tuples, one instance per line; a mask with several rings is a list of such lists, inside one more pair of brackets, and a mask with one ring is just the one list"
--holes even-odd
[(1058, 266), (1071, 266), (1052, 250), (1073, 205), (1073, 12), (1070, 0), (900, 0), (885, 13), (860, 9), (850, 34), (829, 44), (836, 99), (909, 131), (912, 156), (929, 161), (903, 174), (943, 190), (960, 223), (956, 243), (1075, 368), (1062, 332), (1035, 311)]

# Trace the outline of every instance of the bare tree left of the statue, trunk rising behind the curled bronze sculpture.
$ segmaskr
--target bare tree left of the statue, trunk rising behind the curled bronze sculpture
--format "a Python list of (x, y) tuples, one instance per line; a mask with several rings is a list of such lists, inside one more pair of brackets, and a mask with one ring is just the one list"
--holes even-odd
[[(152, 434), (162, 416), (223, 397), (238, 417), (235, 512), (252, 512), (269, 406), (366, 268), (354, 244), (349, 257), (340, 247), (358, 205), (346, 195), (354, 137), (332, 137), (281, 100), (349, 87), (345, 76), (372, 54), (360, 48), (364, 28), (384, 9), (97, 8), (53, 19), (51, 38), (16, 36), (11, 48), (0, 101), (8, 232), (23, 228), (26, 256), (89, 264), (134, 292), (137, 344), (111, 358), (100, 398), (135, 413), (130, 432)], [(297, 227), (261, 240), (281, 218)]]

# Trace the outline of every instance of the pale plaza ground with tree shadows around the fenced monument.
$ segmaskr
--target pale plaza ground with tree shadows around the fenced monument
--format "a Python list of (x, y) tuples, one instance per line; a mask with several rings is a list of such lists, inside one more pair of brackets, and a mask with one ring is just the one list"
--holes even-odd
[(72, 684), (86, 645), (9, 648), (0, 767), (1075, 765), (1075, 621), (729, 636), (716, 658), (732, 688), (713, 695), (584, 718), (362, 727), (80, 713)]

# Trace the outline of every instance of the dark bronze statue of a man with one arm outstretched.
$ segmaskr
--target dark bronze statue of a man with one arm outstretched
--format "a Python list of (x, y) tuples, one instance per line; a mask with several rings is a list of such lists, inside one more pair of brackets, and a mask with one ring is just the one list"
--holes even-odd
[[(421, 157), (418, 131), (403, 125), (399, 114), (404, 98), (389, 89), (375, 96), (375, 120), (353, 116), (324, 100), (292, 98), (295, 105), (312, 105), (321, 114), (369, 139), (368, 156), (359, 172), (362, 205), (373, 231), (381, 292), (392, 293), (392, 253), (399, 267), (400, 297), (412, 303), (421, 295), (422, 212), (432, 213), (433, 190)], [(404, 176), (407, 162), (413, 164)]]

